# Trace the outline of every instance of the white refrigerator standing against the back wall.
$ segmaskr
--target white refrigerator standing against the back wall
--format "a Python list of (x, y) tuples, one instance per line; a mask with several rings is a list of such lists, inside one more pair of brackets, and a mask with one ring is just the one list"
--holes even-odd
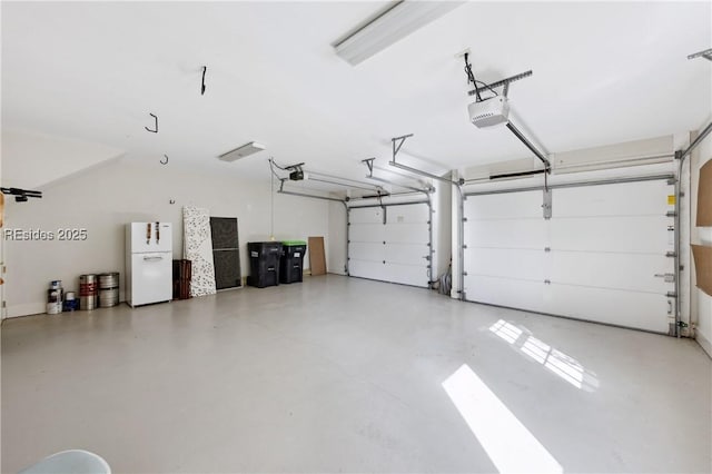
[(129, 306), (172, 298), (170, 223), (126, 225), (126, 303)]

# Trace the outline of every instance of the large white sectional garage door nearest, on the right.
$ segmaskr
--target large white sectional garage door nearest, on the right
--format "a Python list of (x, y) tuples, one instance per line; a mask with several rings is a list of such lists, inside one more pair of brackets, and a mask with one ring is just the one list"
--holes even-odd
[[(674, 324), (665, 180), (469, 196), (465, 299), (625, 327)], [(657, 275), (657, 276), (656, 276)]]

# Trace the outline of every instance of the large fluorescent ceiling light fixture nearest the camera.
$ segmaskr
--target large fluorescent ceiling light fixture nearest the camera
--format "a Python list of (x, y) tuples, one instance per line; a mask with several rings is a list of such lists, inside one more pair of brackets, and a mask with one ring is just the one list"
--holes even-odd
[(375, 18), (366, 20), (365, 23), (336, 40), (332, 46), (338, 56), (356, 66), (463, 3), (462, 1), (397, 1)]

